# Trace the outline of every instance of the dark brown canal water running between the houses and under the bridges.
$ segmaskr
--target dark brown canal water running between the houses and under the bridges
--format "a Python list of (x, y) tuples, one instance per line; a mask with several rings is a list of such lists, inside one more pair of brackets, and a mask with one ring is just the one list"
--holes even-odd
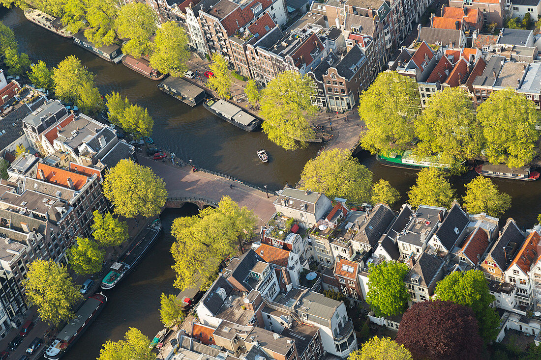
[[(76, 46), (71, 39), (34, 25), (24, 18), (21, 10), (0, 10), (0, 20), (15, 31), (21, 51), (32, 61), (45, 61), (49, 67), (66, 56), (75, 55), (83, 65), (96, 74), (96, 83), (102, 94), (118, 91), (131, 102), (148, 108), (154, 118), (152, 137), (164, 149), (203, 168), (222, 172), (256, 185), (279, 189), (288, 182), (299, 181), (300, 172), (308, 159), (316, 156), (320, 145), (295, 152), (285, 151), (268, 141), (262, 132), (245, 132), (213, 116), (202, 106), (195, 109), (164, 94), (153, 82), (122, 64), (112, 64)], [(266, 149), (270, 160), (262, 164), (256, 151)], [(406, 202), (406, 192), (414, 184), (417, 172), (380, 165), (367, 151), (357, 155), (359, 161), (374, 172), (374, 181), (388, 180), (400, 191)], [(464, 184), (475, 174), (470, 171), (451, 182), (459, 196), (464, 195)], [(523, 228), (531, 227), (541, 212), (541, 181), (522, 182), (494, 179), (499, 189), (513, 198), (512, 208), (504, 219), (513, 216)], [(170, 225), (175, 217), (196, 214), (195, 206), (180, 210), (167, 210), (162, 215), (164, 233), (146, 258), (129, 277), (107, 292), (108, 304), (100, 317), (81, 337), (66, 359), (93, 359), (101, 344), (117, 341), (134, 326), (149, 337), (161, 329), (159, 298), (162, 292), (175, 292), (172, 284), (173, 260), (169, 253), (172, 238)]]

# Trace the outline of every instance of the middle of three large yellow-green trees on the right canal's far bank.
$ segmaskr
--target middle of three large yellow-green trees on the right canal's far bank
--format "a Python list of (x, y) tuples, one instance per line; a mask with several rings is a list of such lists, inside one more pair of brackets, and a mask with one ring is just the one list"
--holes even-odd
[(423, 115), (415, 118), (415, 134), (418, 154), (438, 163), (456, 167), (480, 153), (482, 136), (471, 99), (459, 88), (432, 94)]

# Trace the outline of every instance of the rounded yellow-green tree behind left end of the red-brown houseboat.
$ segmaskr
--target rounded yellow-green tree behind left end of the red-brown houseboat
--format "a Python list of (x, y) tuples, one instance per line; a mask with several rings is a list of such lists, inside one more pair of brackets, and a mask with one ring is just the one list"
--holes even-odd
[(150, 55), (150, 36), (156, 31), (156, 17), (148, 5), (138, 2), (122, 5), (115, 20), (118, 35), (129, 38), (122, 44), (122, 52), (135, 58)]

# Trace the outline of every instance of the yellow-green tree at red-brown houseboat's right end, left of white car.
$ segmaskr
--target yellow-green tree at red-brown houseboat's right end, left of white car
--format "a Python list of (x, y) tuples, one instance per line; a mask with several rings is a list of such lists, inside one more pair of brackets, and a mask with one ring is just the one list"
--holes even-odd
[(175, 21), (162, 24), (156, 31), (150, 66), (162, 74), (181, 77), (188, 70), (186, 61), (189, 59), (188, 36), (184, 28)]

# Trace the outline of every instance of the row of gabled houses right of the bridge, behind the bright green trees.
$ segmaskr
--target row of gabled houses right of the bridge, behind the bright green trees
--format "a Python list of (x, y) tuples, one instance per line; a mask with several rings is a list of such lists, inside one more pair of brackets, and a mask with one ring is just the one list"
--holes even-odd
[[(524, 231), (509, 218), (500, 228), (499, 219), (468, 214), (458, 203), (450, 209), (404, 204), (394, 211), (379, 203), (351, 210), (346, 199), (331, 201), (325, 194), (287, 186), (274, 205), (276, 213), (254, 249), (261, 247), (286, 282), (340, 291), (369, 311), (370, 264), (393, 260), (410, 266), (404, 278), (410, 305), (430, 299), (438, 281), (451, 272), (478, 269), (502, 316), (498, 341), (509, 329), (535, 336), (541, 331), (541, 225)], [(269, 248), (279, 249), (272, 254), (279, 253), (280, 260), (268, 255)], [(300, 267), (292, 266), (297, 261)], [(401, 316), (369, 315), (374, 323), (398, 329)]]

